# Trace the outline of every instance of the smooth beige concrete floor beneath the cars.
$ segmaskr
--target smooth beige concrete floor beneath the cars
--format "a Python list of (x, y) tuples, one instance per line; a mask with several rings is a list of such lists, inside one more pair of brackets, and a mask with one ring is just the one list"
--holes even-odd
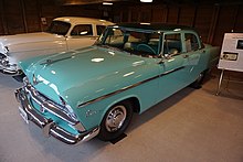
[(115, 144), (66, 145), (23, 122), (13, 95), (21, 84), (0, 74), (0, 162), (243, 162), (243, 83), (228, 78), (220, 96), (212, 75), (201, 89), (187, 87), (135, 115)]

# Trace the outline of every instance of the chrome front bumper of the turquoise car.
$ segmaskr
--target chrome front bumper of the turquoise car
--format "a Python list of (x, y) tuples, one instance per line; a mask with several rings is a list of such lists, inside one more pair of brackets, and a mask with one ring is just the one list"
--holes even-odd
[(99, 128), (97, 127), (89, 131), (78, 131), (78, 134), (72, 134), (71, 132), (59, 127), (57, 123), (55, 123), (52, 119), (46, 119), (38, 110), (35, 110), (28, 100), (28, 93), (23, 88), (19, 88), (15, 90), (15, 98), (21, 105), (19, 109), (22, 118), (24, 114), (27, 122), (32, 121), (36, 126), (39, 126), (43, 130), (45, 137), (52, 136), (64, 143), (78, 144), (84, 141), (91, 140), (99, 132)]

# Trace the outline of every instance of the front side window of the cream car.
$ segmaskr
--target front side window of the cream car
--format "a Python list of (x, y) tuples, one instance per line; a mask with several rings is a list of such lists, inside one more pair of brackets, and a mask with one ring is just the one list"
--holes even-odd
[(93, 35), (92, 24), (75, 25), (71, 32), (72, 36)]

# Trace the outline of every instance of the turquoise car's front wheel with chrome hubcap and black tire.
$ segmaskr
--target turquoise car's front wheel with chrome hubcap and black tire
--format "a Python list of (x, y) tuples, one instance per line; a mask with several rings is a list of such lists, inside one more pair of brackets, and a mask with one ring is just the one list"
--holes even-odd
[(130, 101), (122, 101), (108, 109), (102, 120), (98, 138), (103, 141), (110, 141), (124, 133), (133, 117)]

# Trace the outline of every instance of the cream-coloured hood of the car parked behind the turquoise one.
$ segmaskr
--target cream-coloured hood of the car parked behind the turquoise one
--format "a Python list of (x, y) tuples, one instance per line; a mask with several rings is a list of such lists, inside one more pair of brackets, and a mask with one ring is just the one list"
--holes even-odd
[[(0, 44), (2, 46), (8, 46), (10, 52), (19, 51), (19, 45), (24, 46), (24, 44), (30, 46), (30, 43), (40, 43), (47, 41), (62, 41), (65, 40), (63, 35), (51, 34), (45, 32), (36, 32), (36, 33), (24, 33), (24, 34), (15, 34), (15, 35), (6, 35), (0, 36)], [(24, 48), (23, 48), (24, 50)]]

